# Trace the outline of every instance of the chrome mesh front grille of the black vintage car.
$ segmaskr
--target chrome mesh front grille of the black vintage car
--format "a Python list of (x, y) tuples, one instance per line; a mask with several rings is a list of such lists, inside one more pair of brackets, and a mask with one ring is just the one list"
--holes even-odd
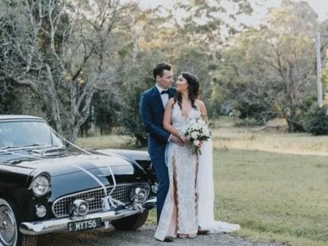
[[(134, 188), (142, 188), (149, 191), (148, 183), (128, 183), (124, 185), (117, 185), (111, 196), (123, 203), (131, 202), (130, 193)], [(111, 191), (113, 186), (108, 186), (107, 193)], [(52, 211), (56, 217), (63, 217), (69, 215), (69, 204), (75, 199), (83, 199), (89, 203), (89, 212), (96, 212), (103, 209), (102, 198), (105, 197), (104, 189), (97, 188), (84, 192), (74, 193), (68, 196), (60, 197), (54, 201)]]

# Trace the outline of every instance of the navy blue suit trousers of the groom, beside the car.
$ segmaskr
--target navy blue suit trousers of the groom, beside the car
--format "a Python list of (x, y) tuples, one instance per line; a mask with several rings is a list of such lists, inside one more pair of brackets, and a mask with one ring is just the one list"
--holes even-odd
[(153, 162), (158, 179), (158, 191), (157, 191), (157, 224), (158, 224), (159, 217), (162, 212), (162, 208), (164, 206), (164, 202), (169, 191), (170, 179), (169, 179), (168, 167), (165, 164), (165, 154), (164, 153), (154, 154), (154, 155), (151, 154), (150, 158)]

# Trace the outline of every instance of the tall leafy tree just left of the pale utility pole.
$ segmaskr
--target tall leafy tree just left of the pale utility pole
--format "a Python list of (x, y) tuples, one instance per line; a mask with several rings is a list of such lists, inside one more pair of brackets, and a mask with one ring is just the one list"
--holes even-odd
[(268, 63), (279, 78), (281, 96), (276, 104), (289, 131), (294, 131), (300, 127), (297, 109), (315, 88), (313, 37), (318, 23), (317, 14), (305, 2), (284, 1), (282, 7), (272, 10), (267, 38), (273, 59)]

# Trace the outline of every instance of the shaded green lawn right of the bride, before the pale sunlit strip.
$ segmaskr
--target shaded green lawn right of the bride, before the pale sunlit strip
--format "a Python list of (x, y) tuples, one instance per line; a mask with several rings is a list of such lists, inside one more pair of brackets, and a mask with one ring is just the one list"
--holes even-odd
[(328, 245), (328, 157), (215, 150), (215, 216), (241, 236)]

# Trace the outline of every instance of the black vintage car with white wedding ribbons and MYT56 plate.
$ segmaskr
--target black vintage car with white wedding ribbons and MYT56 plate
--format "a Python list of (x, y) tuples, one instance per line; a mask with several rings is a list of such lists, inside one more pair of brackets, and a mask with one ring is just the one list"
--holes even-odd
[(156, 206), (147, 152), (71, 151), (42, 118), (0, 115), (0, 245), (112, 224), (135, 230)]

